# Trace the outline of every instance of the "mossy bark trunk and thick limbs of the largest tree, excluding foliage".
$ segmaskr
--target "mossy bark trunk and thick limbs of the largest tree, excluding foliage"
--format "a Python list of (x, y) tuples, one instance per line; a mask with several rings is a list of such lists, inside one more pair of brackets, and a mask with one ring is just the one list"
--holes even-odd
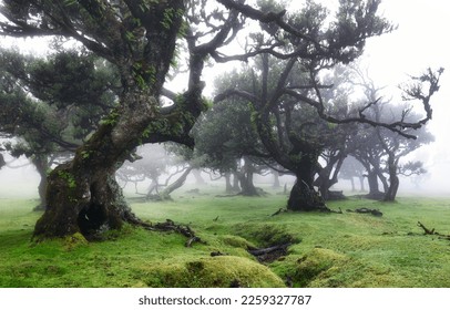
[[(96, 38), (105, 39), (104, 46), (94, 45), (79, 35), (75, 38), (117, 66), (123, 93), (119, 106), (76, 151), (74, 158), (50, 174), (47, 186), (48, 208), (35, 224), (37, 238), (75, 232), (89, 238), (103, 229), (120, 228), (125, 221), (142, 223), (123, 199), (121, 187), (115, 180), (116, 169), (130, 152), (144, 142), (188, 141), (186, 133), (200, 114), (200, 106), (195, 104), (202, 89), (197, 86), (198, 81), (192, 81), (190, 90), (171, 112), (165, 113), (158, 107), (158, 96), (182, 24), (182, 14), (173, 13), (170, 23), (165, 16), (183, 10), (183, 1), (152, 2), (146, 10), (139, 10), (131, 4), (127, 6), (131, 13), (140, 19), (146, 30), (145, 38), (141, 39), (147, 40), (147, 44), (142, 45), (140, 40), (130, 39), (130, 33), (129, 37), (122, 35), (121, 30), (126, 31), (123, 30), (125, 24), (117, 24), (111, 11), (102, 11), (99, 24), (93, 23), (89, 28), (89, 31), (99, 35)], [(106, 18), (111, 18), (109, 28), (101, 24)], [(70, 22), (70, 19), (64, 22)], [(109, 54), (106, 48), (111, 48), (114, 53)], [(201, 56), (196, 64), (203, 65)], [(186, 102), (194, 102), (191, 110)]]

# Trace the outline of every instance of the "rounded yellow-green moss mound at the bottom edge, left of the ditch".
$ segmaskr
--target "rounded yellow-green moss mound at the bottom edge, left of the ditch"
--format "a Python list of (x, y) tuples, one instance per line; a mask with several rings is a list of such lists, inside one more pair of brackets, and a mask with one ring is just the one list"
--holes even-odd
[(187, 262), (161, 262), (141, 270), (149, 287), (284, 287), (282, 279), (267, 267), (247, 258), (221, 256)]

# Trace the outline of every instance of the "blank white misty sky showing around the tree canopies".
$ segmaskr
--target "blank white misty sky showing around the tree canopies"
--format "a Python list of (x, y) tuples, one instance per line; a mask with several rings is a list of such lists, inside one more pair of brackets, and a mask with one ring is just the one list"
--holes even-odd
[[(335, 6), (336, 1), (321, 0), (329, 6)], [(303, 1), (292, 1), (295, 6), (300, 2)], [(395, 90), (408, 79), (407, 74), (419, 74), (429, 66), (447, 69), (441, 79), (441, 90), (432, 99), (434, 114), (429, 126), (436, 135), (436, 142), (416, 152), (415, 156), (423, 159), (430, 172), (422, 187), (450, 195), (450, 188), (443, 179), (444, 175), (450, 174), (450, 146), (447, 145), (450, 143), (450, 104), (447, 102), (450, 99), (450, 44), (447, 35), (450, 29), (450, 1), (385, 0), (381, 12), (398, 24), (398, 29), (370, 39), (367, 43), (365, 63), (378, 85), (388, 85)], [(9, 45), (8, 41), (1, 38), (0, 44)], [(40, 53), (47, 48), (47, 43), (43, 40), (20, 40), (20, 46), (32, 53)], [(213, 80), (211, 75), (229, 68), (227, 64), (209, 69), (205, 80), (209, 83)], [(0, 172), (1, 184), (7, 182), (4, 173)], [(29, 173), (27, 175), (30, 176)]]

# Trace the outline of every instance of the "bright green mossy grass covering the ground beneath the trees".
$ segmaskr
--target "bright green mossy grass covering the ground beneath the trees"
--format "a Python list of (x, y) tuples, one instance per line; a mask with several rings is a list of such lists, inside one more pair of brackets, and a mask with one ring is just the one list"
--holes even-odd
[[(209, 190), (211, 192), (211, 190)], [(31, 234), (34, 200), (0, 199), (0, 287), (450, 287), (450, 241), (425, 236), (417, 221), (450, 234), (450, 199), (360, 198), (330, 203), (344, 214), (283, 213), (286, 196), (248, 198), (182, 194), (137, 203), (143, 219), (190, 225), (206, 245), (178, 234), (126, 226), (108, 240), (79, 236), (40, 244)], [(382, 217), (347, 213), (378, 208)], [(216, 219), (216, 220), (214, 220)], [(290, 241), (288, 255), (257, 262), (248, 246)], [(211, 257), (221, 251), (226, 256)]]

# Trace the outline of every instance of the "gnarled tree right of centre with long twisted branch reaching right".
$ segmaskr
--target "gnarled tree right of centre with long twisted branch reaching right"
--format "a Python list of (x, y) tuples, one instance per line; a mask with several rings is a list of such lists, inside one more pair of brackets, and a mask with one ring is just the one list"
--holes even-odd
[(265, 32), (249, 37), (253, 41), (248, 44), (259, 51), (257, 62), (252, 62), (248, 69), (254, 76), (253, 85), (242, 87), (243, 84), (237, 83), (217, 94), (215, 100), (239, 96), (252, 105), (254, 125), (265, 148), (297, 177), (288, 209), (327, 210), (313, 183), (325, 145), (315, 130), (320, 123), (308, 122), (308, 114), (318, 115), (328, 124), (364, 123), (403, 136), (411, 136), (406, 128), (418, 128), (431, 118), (429, 101), (439, 89), (441, 71), (430, 71), (419, 78), (429, 85), (427, 91), (423, 92), (420, 84), (410, 89), (426, 110), (426, 116), (413, 123), (402, 118), (383, 123), (367, 117), (365, 111), (376, 102), (351, 108), (342, 117), (336, 113), (334, 102), (324, 97), (323, 90), (330, 86), (321, 82), (324, 70), (354, 61), (362, 53), (366, 39), (392, 30), (377, 16), (380, 1), (340, 1), (336, 19), (330, 23), (327, 23), (328, 11), (311, 1), (294, 14), (285, 14), (280, 9), (279, 14), (274, 14), (277, 9), (273, 1), (262, 2), (262, 10), (235, 1), (221, 2), (262, 22)]

